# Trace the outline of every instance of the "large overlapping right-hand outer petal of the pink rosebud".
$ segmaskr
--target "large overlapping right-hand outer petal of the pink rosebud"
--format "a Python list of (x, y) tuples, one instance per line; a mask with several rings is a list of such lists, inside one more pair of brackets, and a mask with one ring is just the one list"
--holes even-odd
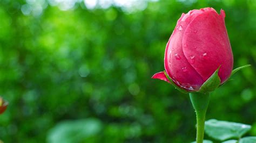
[[(196, 31), (196, 32), (195, 32)], [(183, 37), (184, 55), (188, 62), (206, 81), (221, 65), (221, 83), (230, 76), (233, 68), (233, 55), (227, 36), (223, 13), (205, 11), (194, 18), (187, 26)], [(191, 61), (191, 57), (194, 60)]]

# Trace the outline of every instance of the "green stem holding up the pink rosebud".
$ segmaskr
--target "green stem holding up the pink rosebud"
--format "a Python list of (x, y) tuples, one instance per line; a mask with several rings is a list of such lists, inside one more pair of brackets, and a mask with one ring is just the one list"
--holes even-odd
[(190, 93), (191, 103), (197, 115), (197, 143), (203, 143), (205, 115), (210, 100), (210, 94), (201, 94), (199, 92)]

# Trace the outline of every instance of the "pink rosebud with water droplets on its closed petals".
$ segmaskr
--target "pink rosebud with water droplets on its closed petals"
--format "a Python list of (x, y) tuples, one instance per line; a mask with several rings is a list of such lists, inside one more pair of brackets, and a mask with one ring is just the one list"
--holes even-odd
[[(166, 45), (164, 66), (173, 82), (187, 91), (199, 90), (219, 66), (224, 83), (233, 69), (224, 10), (220, 15), (213, 8), (183, 13)], [(169, 82), (164, 72), (152, 78)]]

